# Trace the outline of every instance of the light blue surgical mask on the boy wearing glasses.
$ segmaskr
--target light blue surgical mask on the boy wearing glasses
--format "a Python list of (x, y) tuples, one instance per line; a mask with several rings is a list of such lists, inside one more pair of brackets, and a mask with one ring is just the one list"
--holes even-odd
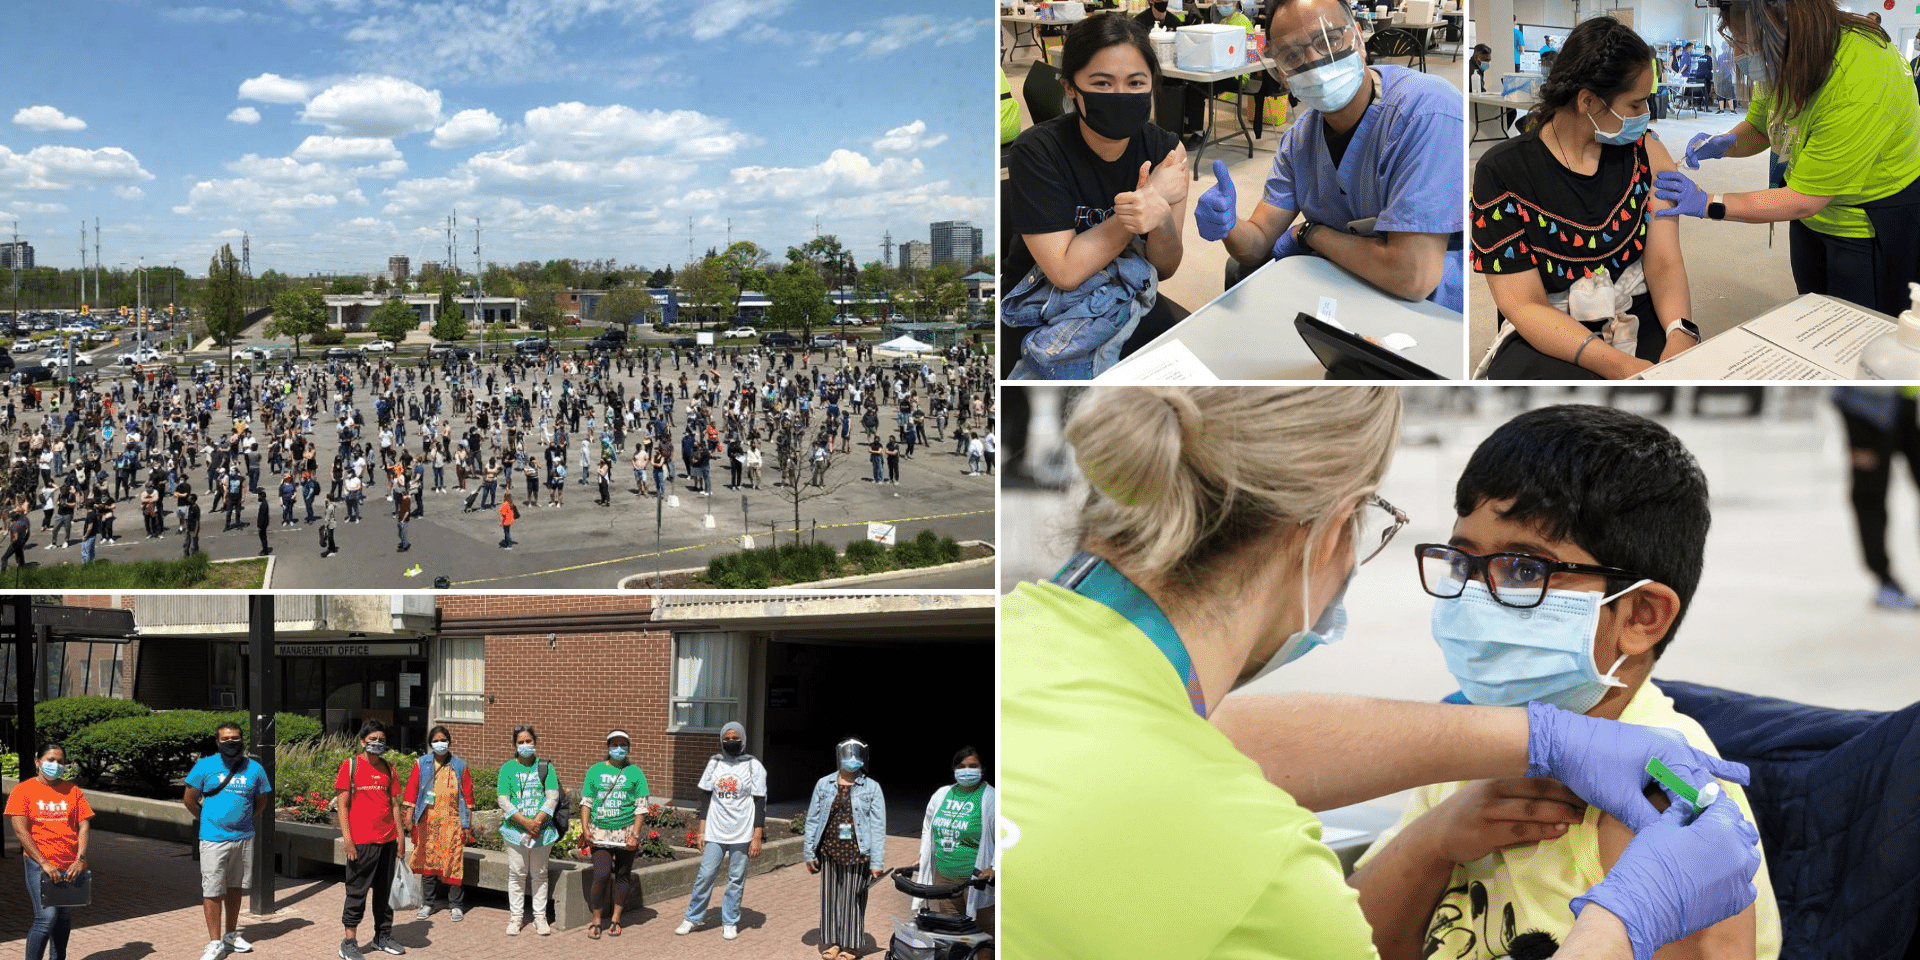
[(1519, 609), (1496, 601), (1486, 584), (1469, 580), (1459, 597), (1434, 601), (1434, 641), (1471, 703), (1521, 707), (1540, 701), (1584, 714), (1607, 687), (1626, 685), (1615, 676), (1626, 662), (1624, 653), (1605, 676), (1594, 666), (1599, 609), (1645, 584), (1651, 580), (1611, 597), (1592, 589), (1549, 589), (1540, 607)]

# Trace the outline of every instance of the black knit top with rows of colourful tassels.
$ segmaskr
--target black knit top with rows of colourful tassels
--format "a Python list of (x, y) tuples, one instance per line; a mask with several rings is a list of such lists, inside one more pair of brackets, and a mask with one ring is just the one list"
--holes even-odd
[(1645, 138), (1603, 144), (1580, 175), (1528, 131), (1480, 157), (1473, 173), (1475, 273), (1538, 271), (1549, 294), (1594, 269), (1613, 276), (1645, 257), (1653, 169)]

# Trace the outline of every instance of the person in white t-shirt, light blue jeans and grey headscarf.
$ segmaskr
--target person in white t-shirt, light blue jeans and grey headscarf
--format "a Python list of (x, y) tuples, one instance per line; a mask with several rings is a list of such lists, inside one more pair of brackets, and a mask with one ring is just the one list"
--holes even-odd
[(701, 872), (693, 879), (687, 914), (674, 933), (693, 933), (707, 920), (714, 881), (726, 864), (726, 895), (720, 899), (720, 935), (739, 937), (739, 904), (747, 895), (747, 860), (760, 856), (766, 841), (766, 766), (747, 753), (747, 728), (739, 720), (720, 728), (720, 753), (707, 758), (699, 789), (701, 818), (693, 826), (701, 851)]

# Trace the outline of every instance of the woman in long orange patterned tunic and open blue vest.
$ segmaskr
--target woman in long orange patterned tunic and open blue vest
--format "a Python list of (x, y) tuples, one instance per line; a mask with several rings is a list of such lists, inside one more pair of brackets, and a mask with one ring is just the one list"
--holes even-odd
[[(420, 877), (420, 910), (415, 920), (434, 916), (434, 893), (447, 887), (447, 916), (459, 924), (467, 916), (467, 835), (474, 826), (474, 778), (467, 758), (453, 753), (453, 732), (444, 724), (426, 732), (426, 755), (407, 774), (401, 801), (413, 858), (407, 868)], [(205, 958), (204, 958), (205, 960)]]

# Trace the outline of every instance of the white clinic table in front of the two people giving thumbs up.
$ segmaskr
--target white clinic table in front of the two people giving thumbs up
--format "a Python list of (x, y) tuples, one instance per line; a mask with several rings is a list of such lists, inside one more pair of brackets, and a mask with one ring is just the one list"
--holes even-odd
[[(1450, 257), (1461, 255), (1457, 250)], [(1319, 315), (1332, 298), (1334, 319), (1361, 336), (1407, 334), (1417, 346), (1402, 355), (1448, 378), (1465, 376), (1467, 324), (1459, 313), (1421, 300), (1409, 303), (1377, 290), (1323, 257), (1271, 261), (1238, 286), (1177, 323), (1135, 357), (1179, 340), (1221, 380), (1323, 380), (1313, 349), (1294, 330), (1294, 315)]]

